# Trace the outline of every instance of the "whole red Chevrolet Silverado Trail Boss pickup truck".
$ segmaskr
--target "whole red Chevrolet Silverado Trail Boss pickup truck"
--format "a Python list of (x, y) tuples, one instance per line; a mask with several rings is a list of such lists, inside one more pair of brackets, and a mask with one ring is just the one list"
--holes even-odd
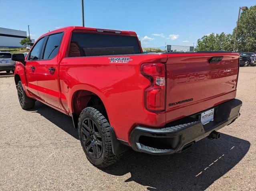
[(240, 116), (239, 54), (143, 54), (135, 32), (66, 27), (42, 35), (17, 61), (23, 109), (38, 100), (73, 119), (91, 163), (106, 167), (128, 146), (182, 152)]

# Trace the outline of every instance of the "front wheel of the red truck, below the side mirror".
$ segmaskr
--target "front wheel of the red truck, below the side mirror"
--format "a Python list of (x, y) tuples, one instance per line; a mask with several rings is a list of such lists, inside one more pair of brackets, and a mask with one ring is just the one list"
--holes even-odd
[(21, 106), (22, 109), (28, 110), (28, 109), (34, 108), (36, 100), (34, 100), (32, 98), (29, 98), (26, 95), (26, 92), (23, 89), (21, 81), (18, 81), (17, 92), (18, 92), (18, 98), (19, 98), (20, 106)]

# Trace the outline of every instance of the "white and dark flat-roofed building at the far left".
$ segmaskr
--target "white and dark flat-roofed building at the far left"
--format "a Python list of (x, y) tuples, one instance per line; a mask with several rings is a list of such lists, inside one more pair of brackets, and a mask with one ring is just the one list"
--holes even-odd
[[(17, 48), (25, 47), (20, 44), (20, 41), (27, 37), (26, 31), (13, 30), (0, 27), (0, 47), (2, 48)], [(34, 39), (31, 39), (32, 44)]]

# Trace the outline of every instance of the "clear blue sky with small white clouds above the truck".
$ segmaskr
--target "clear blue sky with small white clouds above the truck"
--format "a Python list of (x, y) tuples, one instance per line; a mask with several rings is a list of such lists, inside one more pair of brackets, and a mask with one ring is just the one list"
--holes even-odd
[[(144, 47), (193, 45), (209, 33), (231, 33), (239, 6), (256, 0), (84, 0), (85, 26), (135, 31)], [(0, 0), (0, 27), (31, 38), (81, 26), (81, 0)]]

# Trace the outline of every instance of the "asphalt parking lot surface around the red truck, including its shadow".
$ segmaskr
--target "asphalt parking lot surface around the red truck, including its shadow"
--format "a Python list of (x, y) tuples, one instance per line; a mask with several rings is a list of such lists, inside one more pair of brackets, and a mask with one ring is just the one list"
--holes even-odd
[(241, 67), (241, 116), (169, 156), (129, 150), (106, 169), (86, 159), (72, 120), (40, 102), (22, 110), (13, 75), (0, 75), (0, 190), (256, 190), (256, 67)]

